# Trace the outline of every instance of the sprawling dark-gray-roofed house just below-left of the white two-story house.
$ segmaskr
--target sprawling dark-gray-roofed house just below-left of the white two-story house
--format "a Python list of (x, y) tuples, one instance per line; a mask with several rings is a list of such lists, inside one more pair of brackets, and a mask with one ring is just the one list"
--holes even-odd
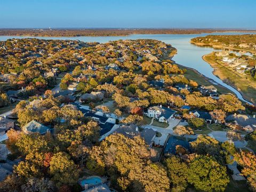
[(125, 137), (133, 138), (135, 136), (142, 137), (149, 147), (153, 146), (154, 139), (156, 137), (156, 132), (153, 129), (143, 129), (141, 132), (139, 131), (139, 127), (135, 124), (131, 125), (121, 125), (119, 126), (116, 133), (120, 133), (125, 135)]

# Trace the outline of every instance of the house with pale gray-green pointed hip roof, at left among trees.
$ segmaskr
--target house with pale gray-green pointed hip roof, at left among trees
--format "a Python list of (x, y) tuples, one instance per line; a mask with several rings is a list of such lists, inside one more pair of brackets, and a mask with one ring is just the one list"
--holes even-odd
[(23, 126), (22, 130), (26, 134), (33, 134), (33, 133), (45, 134), (48, 131), (50, 131), (50, 128), (33, 120), (28, 124), (26, 124), (25, 126)]

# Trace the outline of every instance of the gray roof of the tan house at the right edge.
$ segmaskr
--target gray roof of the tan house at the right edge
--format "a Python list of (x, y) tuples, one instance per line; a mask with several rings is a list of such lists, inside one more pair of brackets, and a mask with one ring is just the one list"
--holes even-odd
[[(250, 125), (252, 128), (256, 128), (256, 118), (252, 118), (247, 115), (229, 115), (226, 118), (226, 122), (236, 122), (238, 125), (241, 125), (243, 127), (246, 127), (247, 125)], [(253, 126), (254, 125), (254, 126)]]

